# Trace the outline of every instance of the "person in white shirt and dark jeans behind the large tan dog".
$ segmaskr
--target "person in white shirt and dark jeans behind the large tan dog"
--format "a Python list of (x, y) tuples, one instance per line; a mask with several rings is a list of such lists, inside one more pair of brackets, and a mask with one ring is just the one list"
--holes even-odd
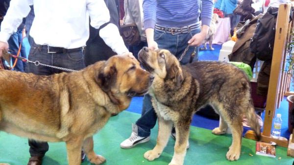
[[(35, 18), (29, 34), (34, 43), (28, 60), (72, 70), (84, 68), (83, 47), (89, 38), (89, 16), (91, 26), (100, 29), (100, 37), (114, 52), (134, 58), (125, 47), (118, 27), (109, 22), (104, 0), (11, 0), (1, 23), (0, 57), (8, 50), (7, 40), (28, 15), (30, 5), (34, 5)], [(25, 72), (50, 75), (62, 70), (28, 63)], [(29, 141), (29, 145), (28, 165), (41, 165), (48, 143)]]

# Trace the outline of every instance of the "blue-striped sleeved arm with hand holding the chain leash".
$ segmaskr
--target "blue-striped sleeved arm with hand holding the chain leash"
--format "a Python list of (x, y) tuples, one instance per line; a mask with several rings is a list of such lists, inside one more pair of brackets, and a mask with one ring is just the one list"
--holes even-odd
[(202, 0), (202, 10), (201, 10), (201, 31), (197, 33), (188, 41), (190, 46), (200, 46), (202, 41), (205, 39), (209, 31), (210, 22), (213, 13), (213, 1), (212, 0)]

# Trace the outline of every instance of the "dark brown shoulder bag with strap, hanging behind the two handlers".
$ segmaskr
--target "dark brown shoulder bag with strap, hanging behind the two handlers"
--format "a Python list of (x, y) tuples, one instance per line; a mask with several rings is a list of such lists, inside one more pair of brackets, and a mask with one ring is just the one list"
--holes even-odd
[(141, 42), (141, 36), (136, 23), (125, 24), (125, 18), (127, 16), (128, 1), (126, 1), (126, 10), (123, 17), (123, 25), (121, 25), (120, 33), (123, 37), (123, 41), (128, 46), (137, 46)]

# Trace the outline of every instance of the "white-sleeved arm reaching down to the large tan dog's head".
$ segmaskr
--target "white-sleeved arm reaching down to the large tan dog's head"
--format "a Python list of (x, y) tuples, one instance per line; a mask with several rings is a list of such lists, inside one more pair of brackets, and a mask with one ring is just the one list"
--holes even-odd
[(109, 22), (110, 14), (104, 0), (87, 0), (87, 11), (91, 18), (91, 26), (96, 29), (102, 26), (99, 36), (114, 52), (117, 54), (129, 52), (124, 45), (118, 27)]

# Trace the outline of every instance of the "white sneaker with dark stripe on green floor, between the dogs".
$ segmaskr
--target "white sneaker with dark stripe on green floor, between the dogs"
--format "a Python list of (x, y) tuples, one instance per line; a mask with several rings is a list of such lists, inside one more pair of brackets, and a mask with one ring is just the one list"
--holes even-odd
[(132, 134), (128, 139), (124, 140), (121, 143), (121, 148), (124, 148), (124, 149), (132, 148), (136, 146), (137, 144), (145, 143), (145, 142), (148, 142), (149, 140), (150, 140), (150, 136), (148, 137), (138, 136), (138, 126), (136, 124), (132, 124)]

